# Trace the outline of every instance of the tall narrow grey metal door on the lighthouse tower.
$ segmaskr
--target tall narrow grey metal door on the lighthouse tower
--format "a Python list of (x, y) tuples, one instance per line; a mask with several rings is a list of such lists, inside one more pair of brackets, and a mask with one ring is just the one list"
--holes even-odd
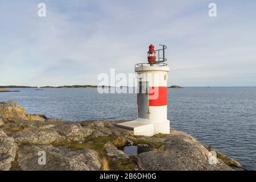
[(139, 82), (138, 117), (148, 119), (148, 82)]

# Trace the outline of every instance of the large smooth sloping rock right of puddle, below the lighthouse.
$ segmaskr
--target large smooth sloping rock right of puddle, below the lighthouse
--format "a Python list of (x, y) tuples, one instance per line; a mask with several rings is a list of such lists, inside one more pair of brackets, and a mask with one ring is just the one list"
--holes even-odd
[(142, 170), (233, 170), (221, 159), (210, 164), (209, 151), (191, 135), (176, 130), (170, 133), (163, 138), (150, 138), (163, 144), (158, 150), (138, 155)]

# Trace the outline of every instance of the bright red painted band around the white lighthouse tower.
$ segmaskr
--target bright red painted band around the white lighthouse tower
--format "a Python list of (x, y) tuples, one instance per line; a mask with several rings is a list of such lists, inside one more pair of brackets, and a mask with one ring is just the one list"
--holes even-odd
[(167, 105), (167, 86), (150, 86), (149, 88), (149, 106)]

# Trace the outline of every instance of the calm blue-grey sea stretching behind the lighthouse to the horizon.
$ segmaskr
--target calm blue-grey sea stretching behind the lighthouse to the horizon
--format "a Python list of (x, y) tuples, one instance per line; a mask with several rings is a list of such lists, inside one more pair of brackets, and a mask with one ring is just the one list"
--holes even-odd
[[(9, 89), (0, 101), (15, 100), (28, 113), (70, 121), (132, 120), (136, 94), (99, 94), (97, 89)], [(256, 169), (256, 87), (183, 88), (168, 90), (171, 127), (191, 134)]]

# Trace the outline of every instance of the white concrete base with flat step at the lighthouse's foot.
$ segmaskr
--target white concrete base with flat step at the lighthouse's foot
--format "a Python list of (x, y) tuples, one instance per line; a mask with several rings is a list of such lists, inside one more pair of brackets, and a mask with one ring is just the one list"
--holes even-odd
[(156, 134), (170, 134), (170, 121), (166, 120), (163, 122), (148, 122), (148, 121), (127, 121), (118, 123), (118, 127), (124, 129), (133, 130), (134, 135), (143, 135), (152, 137)]

